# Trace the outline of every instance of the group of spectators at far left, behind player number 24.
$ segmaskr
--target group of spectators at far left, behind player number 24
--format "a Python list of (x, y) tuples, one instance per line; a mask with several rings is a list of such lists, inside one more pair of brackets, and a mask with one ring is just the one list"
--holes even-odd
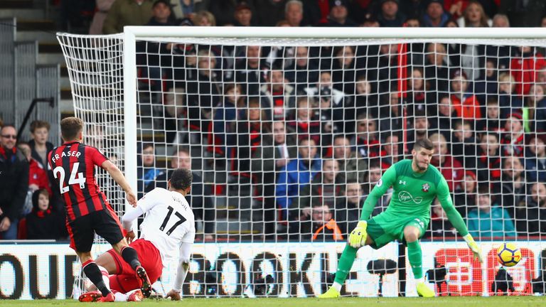
[(68, 239), (65, 208), (46, 163), (50, 124), (32, 122), (28, 142), (13, 125), (0, 126), (1, 239)]

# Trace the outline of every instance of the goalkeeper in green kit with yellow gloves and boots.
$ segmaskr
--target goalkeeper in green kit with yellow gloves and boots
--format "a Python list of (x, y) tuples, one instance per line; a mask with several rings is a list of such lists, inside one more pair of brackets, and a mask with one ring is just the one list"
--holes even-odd
[[(338, 262), (333, 285), (319, 298), (337, 298), (341, 286), (355, 261), (358, 248), (370, 245), (379, 249), (395, 239), (407, 244), (407, 257), (416, 279), (419, 296), (432, 297), (434, 291), (424, 283), (422, 252), (419, 238), (424, 235), (430, 220), (430, 204), (438, 197), (451, 224), (454, 225), (474, 257), (482, 262), (481, 249), (466, 229), (463, 218), (451, 202), (444, 176), (429, 165), (434, 145), (429, 139), (415, 142), (412, 160), (402, 160), (390, 166), (366, 199), (360, 222), (350, 232), (348, 244)], [(392, 186), (393, 193), (385, 212), (370, 219), (375, 203)]]

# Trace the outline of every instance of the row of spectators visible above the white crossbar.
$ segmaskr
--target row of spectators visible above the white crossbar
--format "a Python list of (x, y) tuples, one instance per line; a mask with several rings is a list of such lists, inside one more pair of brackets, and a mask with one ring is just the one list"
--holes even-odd
[[(95, 2), (95, 3), (93, 3)], [(89, 22), (90, 34), (123, 26), (543, 26), (537, 0), (61, 0), (60, 24)], [(168, 18), (154, 14), (171, 13)], [(163, 13), (161, 13), (163, 11)], [(70, 28), (70, 26), (68, 26)]]

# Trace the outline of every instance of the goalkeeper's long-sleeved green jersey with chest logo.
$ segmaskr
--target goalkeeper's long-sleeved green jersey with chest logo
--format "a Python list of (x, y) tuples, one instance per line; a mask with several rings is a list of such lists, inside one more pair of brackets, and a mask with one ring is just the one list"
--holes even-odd
[(438, 197), (451, 224), (460, 235), (469, 233), (464, 220), (455, 210), (446, 179), (432, 165), (424, 173), (415, 173), (412, 160), (390, 166), (366, 198), (360, 220), (368, 220), (378, 199), (392, 186), (392, 198), (384, 214), (393, 218), (422, 217), (430, 220), (430, 204)]

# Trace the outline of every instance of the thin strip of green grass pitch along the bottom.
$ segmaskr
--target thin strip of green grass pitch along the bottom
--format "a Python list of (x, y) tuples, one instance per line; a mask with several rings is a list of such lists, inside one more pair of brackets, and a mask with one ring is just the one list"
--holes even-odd
[[(157, 307), (437, 307), (437, 306), (476, 306), (476, 307), (524, 307), (545, 306), (546, 296), (495, 296), (495, 297), (438, 297), (438, 298), (338, 298), (319, 300), (317, 298), (184, 298), (182, 301), (147, 299), (141, 303), (108, 303), (107, 306), (157, 306)], [(80, 303), (75, 300), (41, 301), (0, 301), (0, 306), (45, 307), (45, 306), (86, 306), (95, 303)], [(101, 304), (102, 306), (102, 304)]]

